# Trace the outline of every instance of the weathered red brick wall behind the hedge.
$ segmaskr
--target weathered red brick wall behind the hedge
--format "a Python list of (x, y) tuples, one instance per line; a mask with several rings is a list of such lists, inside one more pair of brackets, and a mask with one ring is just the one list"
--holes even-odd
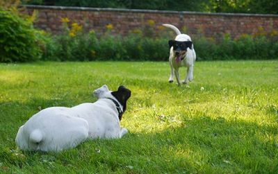
[(254, 15), (232, 13), (177, 12), (161, 10), (126, 10), (111, 8), (72, 8), (59, 6), (26, 6), (28, 14), (38, 11), (35, 26), (45, 31), (61, 31), (60, 19), (67, 17), (82, 24), (85, 30), (104, 33), (106, 25), (113, 25), (113, 33), (126, 35), (146, 25), (149, 19), (154, 20), (155, 28), (161, 24), (173, 24), (186, 28), (188, 35), (198, 32), (206, 37), (219, 37), (230, 33), (232, 37), (242, 34), (254, 34), (263, 28), (266, 32), (278, 31), (278, 15)]

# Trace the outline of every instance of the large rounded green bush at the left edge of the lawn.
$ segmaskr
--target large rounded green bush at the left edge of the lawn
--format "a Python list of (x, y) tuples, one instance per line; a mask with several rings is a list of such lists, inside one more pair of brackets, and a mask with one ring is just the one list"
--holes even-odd
[(28, 62), (42, 55), (40, 32), (16, 12), (0, 9), (0, 62)]

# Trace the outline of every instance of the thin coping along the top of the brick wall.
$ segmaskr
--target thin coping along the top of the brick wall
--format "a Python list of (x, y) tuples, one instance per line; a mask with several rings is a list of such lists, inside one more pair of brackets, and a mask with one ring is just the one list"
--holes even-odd
[(170, 10), (140, 10), (124, 8), (88, 8), (88, 7), (65, 7), (65, 6), (36, 6), (24, 5), (26, 8), (49, 9), (49, 10), (78, 10), (78, 11), (108, 11), (108, 12), (142, 12), (142, 13), (161, 13), (179, 15), (211, 15), (211, 16), (240, 16), (240, 17), (278, 17), (272, 14), (252, 14), (252, 13), (231, 13), (231, 12), (190, 12), (190, 11), (170, 11)]

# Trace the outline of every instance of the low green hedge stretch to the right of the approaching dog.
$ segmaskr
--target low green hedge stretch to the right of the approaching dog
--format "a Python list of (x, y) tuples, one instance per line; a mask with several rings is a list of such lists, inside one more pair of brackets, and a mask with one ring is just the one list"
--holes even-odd
[(278, 41), (265, 36), (242, 35), (231, 39), (229, 35), (218, 42), (197, 37), (194, 46), (199, 60), (268, 60), (278, 58)]

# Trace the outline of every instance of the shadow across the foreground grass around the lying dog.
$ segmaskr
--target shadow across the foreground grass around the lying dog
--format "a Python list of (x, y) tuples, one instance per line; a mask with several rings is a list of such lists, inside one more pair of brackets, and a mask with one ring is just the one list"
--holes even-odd
[[(34, 98), (29, 103), (1, 103), (1, 165), (77, 166), (92, 172), (123, 173), (277, 173), (278, 129), (223, 117), (199, 116), (183, 120), (180, 127), (161, 132), (126, 134), (122, 139), (86, 141), (61, 153), (22, 152), (15, 135), (22, 123), (38, 112), (38, 106), (69, 105)], [(144, 123), (142, 123), (144, 124)], [(97, 152), (99, 150), (99, 153)], [(49, 169), (50, 170), (50, 169)]]

